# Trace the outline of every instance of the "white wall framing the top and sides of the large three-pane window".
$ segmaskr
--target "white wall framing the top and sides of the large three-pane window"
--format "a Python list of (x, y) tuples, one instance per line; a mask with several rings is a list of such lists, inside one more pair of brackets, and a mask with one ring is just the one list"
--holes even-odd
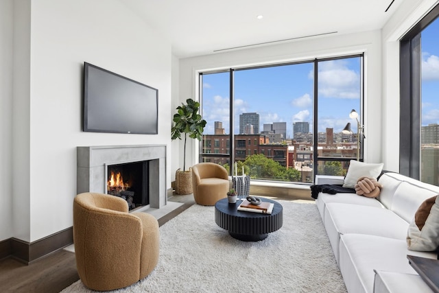
[[(254, 49), (243, 49), (228, 53), (200, 56), (180, 60), (180, 99), (195, 97), (198, 83), (198, 71), (206, 69), (230, 68), (242, 65), (259, 65), (292, 60), (309, 60), (325, 56), (344, 54), (365, 54), (365, 113), (364, 123), (366, 145), (365, 160), (381, 162), (381, 32), (363, 32), (359, 34), (328, 36), (309, 40), (295, 41), (283, 45), (272, 45)], [(197, 97), (198, 98), (198, 97)], [(346, 114), (348, 115), (348, 113)], [(193, 150), (198, 141), (191, 140)], [(182, 145), (182, 144), (181, 144)], [(198, 161), (196, 152), (189, 150), (187, 165)], [(182, 166), (182, 147), (180, 162), (172, 162), (172, 169)]]

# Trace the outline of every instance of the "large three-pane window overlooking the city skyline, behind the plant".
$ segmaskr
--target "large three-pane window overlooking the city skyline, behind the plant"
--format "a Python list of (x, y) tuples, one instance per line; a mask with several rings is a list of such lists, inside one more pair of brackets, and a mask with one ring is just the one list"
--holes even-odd
[[(356, 55), (201, 73), (207, 126), (200, 161), (230, 174), (236, 162), (237, 174), (244, 169), (260, 180), (311, 183), (315, 174), (346, 174), (348, 161), (363, 153), (362, 62)], [(349, 118), (352, 109), (359, 120)], [(207, 151), (206, 141), (224, 137), (232, 142), (225, 150)]]

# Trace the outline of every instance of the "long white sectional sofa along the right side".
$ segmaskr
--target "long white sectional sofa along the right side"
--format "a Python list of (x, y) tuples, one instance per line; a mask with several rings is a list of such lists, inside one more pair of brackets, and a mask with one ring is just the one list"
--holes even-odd
[[(407, 249), (407, 229), (424, 200), (439, 187), (386, 172), (378, 198), (320, 192), (316, 205), (350, 293), (433, 292), (407, 255), (437, 259), (434, 252)], [(316, 176), (316, 185), (342, 185), (341, 176)]]

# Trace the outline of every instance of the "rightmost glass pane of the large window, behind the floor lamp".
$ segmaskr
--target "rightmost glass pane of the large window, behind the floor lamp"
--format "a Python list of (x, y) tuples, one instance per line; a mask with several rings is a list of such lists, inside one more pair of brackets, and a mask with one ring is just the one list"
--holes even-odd
[[(349, 117), (353, 109), (361, 114), (360, 70), (360, 57), (318, 62), (319, 157), (356, 158), (357, 151), (361, 157), (357, 148), (357, 119), (361, 117)], [(361, 143), (358, 144), (361, 148)]]

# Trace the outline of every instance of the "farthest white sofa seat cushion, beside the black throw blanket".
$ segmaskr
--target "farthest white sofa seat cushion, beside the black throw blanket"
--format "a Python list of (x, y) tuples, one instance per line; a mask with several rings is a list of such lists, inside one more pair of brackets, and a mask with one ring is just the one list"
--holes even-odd
[(324, 208), (325, 205), (329, 202), (339, 202), (346, 204), (360, 204), (364, 206), (370, 207), (383, 207), (381, 202), (376, 200), (375, 198), (366, 198), (364, 196), (357, 196), (356, 194), (318, 194), (318, 198), (316, 199), (316, 205), (318, 207), (318, 211), (320, 213), (320, 217), (324, 220)]

